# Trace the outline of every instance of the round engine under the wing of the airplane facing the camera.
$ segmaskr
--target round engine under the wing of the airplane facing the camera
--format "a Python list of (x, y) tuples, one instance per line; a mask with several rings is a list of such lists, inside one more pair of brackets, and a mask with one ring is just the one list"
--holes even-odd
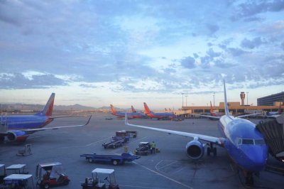
[(193, 159), (202, 158), (204, 154), (204, 144), (198, 140), (193, 140), (186, 145), (187, 156)]

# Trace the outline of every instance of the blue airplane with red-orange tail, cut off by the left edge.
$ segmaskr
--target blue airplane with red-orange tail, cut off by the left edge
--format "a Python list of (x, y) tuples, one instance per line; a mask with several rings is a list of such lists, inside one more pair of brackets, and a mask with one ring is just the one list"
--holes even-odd
[(45, 104), (43, 111), (40, 111), (33, 115), (12, 115), (12, 116), (1, 116), (0, 125), (0, 141), (4, 141), (5, 138), (8, 141), (26, 141), (30, 134), (35, 131), (45, 131), (49, 129), (62, 129), (77, 126), (85, 126), (89, 124), (89, 117), (86, 124), (72, 125), (72, 126), (54, 126), (54, 127), (44, 127), (50, 124), (56, 118), (62, 117), (72, 117), (72, 116), (62, 116), (62, 117), (52, 117), (53, 113), (53, 103), (55, 99), (55, 93), (50, 95), (48, 102)]

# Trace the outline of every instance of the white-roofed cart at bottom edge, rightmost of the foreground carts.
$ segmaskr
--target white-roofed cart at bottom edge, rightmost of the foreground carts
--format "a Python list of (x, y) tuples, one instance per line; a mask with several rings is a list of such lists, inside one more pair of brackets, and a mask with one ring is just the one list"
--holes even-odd
[[(103, 178), (103, 180), (102, 180)], [(104, 182), (107, 180), (109, 185)], [(109, 188), (119, 189), (119, 185), (116, 184), (114, 175), (114, 169), (95, 168), (92, 171), (92, 178), (85, 178), (84, 183), (81, 183), (82, 189), (97, 189), (97, 188)]]

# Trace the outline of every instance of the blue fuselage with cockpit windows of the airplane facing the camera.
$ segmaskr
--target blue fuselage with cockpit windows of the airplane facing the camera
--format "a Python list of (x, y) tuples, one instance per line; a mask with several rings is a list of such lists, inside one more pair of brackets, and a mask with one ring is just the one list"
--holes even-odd
[(224, 148), (244, 171), (258, 172), (266, 166), (268, 146), (251, 121), (231, 116), (219, 120), (219, 129), (226, 139)]

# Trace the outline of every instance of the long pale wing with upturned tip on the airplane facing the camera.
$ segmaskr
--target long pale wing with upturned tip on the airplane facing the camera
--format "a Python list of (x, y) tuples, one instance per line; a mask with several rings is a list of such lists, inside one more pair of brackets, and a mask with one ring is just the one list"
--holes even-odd
[(182, 131), (173, 131), (173, 130), (168, 130), (168, 129), (159, 129), (159, 128), (155, 128), (155, 127), (150, 127), (150, 126), (141, 126), (141, 125), (136, 125), (136, 124), (129, 124), (129, 121), (127, 119), (127, 115), (125, 115), (125, 124), (127, 126), (136, 126), (139, 128), (143, 128), (143, 129), (150, 129), (153, 131), (160, 131), (160, 132), (164, 132), (167, 134), (176, 134), (176, 135), (180, 135), (180, 136), (185, 136), (185, 137), (192, 137), (192, 138), (197, 138), (200, 139), (202, 141), (208, 141), (208, 142), (212, 142), (214, 144), (217, 144), (219, 146), (223, 147), (224, 144), (224, 140), (223, 138), (218, 138), (218, 137), (214, 137), (214, 136), (207, 136), (207, 135), (203, 135), (203, 134), (192, 134), (192, 133), (187, 133), (187, 132), (182, 132)]

